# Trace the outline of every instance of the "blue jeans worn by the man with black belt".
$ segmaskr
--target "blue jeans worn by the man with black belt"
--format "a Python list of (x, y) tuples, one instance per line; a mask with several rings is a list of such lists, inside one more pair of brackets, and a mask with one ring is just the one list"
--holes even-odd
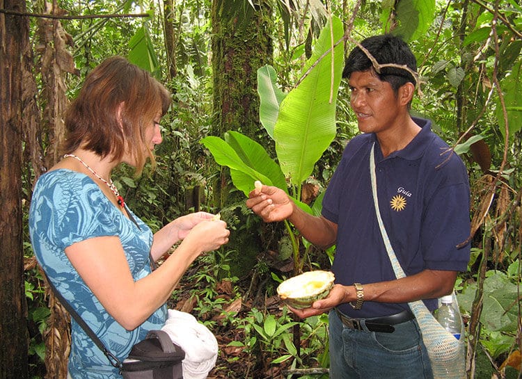
[(417, 321), (393, 325), (395, 332), (352, 330), (329, 314), (331, 379), (432, 379), (432, 367)]

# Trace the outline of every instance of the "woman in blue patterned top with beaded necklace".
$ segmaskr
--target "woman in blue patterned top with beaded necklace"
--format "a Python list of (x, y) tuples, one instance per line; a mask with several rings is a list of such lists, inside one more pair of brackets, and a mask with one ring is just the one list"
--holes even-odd
[[(111, 171), (127, 163), (141, 172), (161, 143), (159, 121), (168, 91), (118, 56), (87, 76), (65, 115), (64, 158), (35, 186), (29, 229), (35, 256), (56, 289), (123, 360), (149, 330), (166, 321), (166, 300), (202, 252), (228, 242), (226, 223), (198, 212), (152, 235), (127, 208)], [(173, 254), (152, 272), (150, 259)], [(72, 378), (119, 378), (105, 355), (72, 321)]]

